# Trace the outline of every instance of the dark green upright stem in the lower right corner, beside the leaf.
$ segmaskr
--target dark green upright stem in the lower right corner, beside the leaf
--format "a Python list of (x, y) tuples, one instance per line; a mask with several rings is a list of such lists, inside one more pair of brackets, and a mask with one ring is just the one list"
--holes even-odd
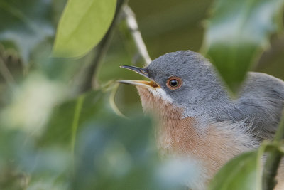
[[(284, 111), (282, 114), (280, 125), (273, 139), (273, 142), (275, 142), (275, 144), (278, 144), (283, 139), (284, 139)], [(266, 163), (263, 168), (263, 190), (272, 190), (277, 184), (275, 176), (277, 175), (277, 170), (281, 162), (281, 157), (282, 153), (277, 148), (273, 149), (271, 152), (268, 152)]]

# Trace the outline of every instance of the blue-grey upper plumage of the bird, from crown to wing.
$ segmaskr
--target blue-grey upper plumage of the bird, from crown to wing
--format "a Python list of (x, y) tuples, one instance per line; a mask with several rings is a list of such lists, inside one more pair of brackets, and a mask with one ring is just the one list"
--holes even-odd
[[(199, 53), (166, 53), (146, 68), (124, 68), (155, 81), (162, 90), (161, 98), (184, 108), (183, 117), (206, 122), (246, 121), (259, 139), (271, 138), (278, 126), (284, 106), (284, 82), (271, 75), (249, 73), (239, 98), (231, 100), (212, 64)], [(174, 86), (169, 85), (171, 79)]]

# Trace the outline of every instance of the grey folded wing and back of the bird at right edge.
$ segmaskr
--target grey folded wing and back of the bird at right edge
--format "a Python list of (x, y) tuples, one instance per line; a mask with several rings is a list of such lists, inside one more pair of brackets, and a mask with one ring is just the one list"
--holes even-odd
[(249, 73), (240, 97), (228, 110), (231, 120), (246, 120), (259, 140), (271, 139), (284, 107), (284, 82), (264, 73)]

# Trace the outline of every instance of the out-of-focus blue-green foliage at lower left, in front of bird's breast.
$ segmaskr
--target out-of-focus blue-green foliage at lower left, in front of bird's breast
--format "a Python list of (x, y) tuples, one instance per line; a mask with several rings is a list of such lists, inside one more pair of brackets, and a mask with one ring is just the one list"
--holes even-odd
[[(76, 122), (71, 118), (78, 101)], [(56, 106), (40, 134), (35, 127), (1, 126), (1, 189), (182, 188), (180, 183), (165, 186), (173, 174), (160, 171), (171, 162), (158, 162), (151, 120), (117, 116), (109, 93), (97, 90)], [(177, 180), (185, 177), (183, 169), (176, 173)]]

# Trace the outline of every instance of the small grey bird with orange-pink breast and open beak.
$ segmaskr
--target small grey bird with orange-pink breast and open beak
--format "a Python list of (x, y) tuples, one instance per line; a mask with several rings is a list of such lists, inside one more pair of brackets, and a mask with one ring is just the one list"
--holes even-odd
[[(239, 97), (232, 100), (212, 63), (199, 53), (166, 53), (146, 68), (121, 68), (150, 79), (119, 82), (135, 85), (143, 110), (158, 117), (161, 154), (181, 155), (197, 164), (198, 180), (190, 189), (206, 189), (229, 159), (272, 139), (280, 122), (284, 82), (271, 75), (248, 73)], [(278, 179), (284, 182), (284, 168)], [(283, 189), (278, 182), (276, 188)]]

